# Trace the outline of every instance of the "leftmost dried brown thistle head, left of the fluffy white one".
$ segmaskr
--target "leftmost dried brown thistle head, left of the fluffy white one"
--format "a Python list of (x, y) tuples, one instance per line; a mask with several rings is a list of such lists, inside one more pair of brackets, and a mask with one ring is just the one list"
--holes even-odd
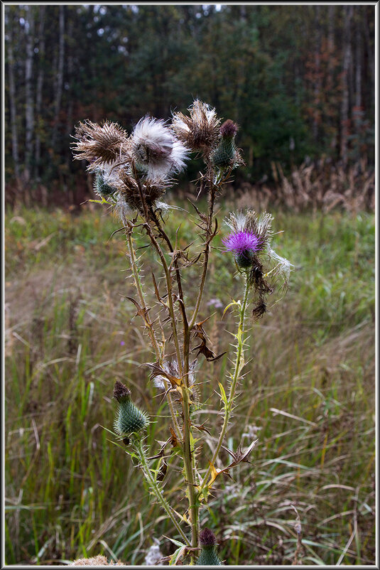
[(117, 123), (81, 122), (75, 128), (75, 138), (77, 142), (72, 146), (74, 158), (89, 161), (89, 171), (96, 171), (129, 152), (129, 138)]

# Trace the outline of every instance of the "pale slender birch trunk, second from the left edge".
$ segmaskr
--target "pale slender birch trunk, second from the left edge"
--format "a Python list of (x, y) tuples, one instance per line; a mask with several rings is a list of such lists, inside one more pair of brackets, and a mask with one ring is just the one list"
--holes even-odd
[(24, 178), (28, 183), (31, 177), (31, 161), (33, 156), (33, 56), (34, 56), (34, 15), (33, 6), (29, 6), (25, 23), (26, 59), (25, 59), (25, 169)]

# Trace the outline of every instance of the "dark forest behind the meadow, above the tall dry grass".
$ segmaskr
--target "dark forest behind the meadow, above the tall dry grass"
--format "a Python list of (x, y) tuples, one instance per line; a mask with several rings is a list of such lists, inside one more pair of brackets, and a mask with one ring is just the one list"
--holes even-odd
[(238, 181), (273, 184), (273, 163), (374, 164), (374, 6), (4, 8), (9, 203), (88, 195), (70, 151), (77, 122), (130, 130), (195, 97), (241, 126)]

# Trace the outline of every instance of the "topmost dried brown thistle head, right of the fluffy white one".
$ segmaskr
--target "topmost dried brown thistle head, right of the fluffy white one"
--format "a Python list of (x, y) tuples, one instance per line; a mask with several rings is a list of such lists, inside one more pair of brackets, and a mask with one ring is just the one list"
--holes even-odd
[(190, 150), (210, 154), (219, 140), (220, 120), (215, 109), (195, 100), (188, 111), (190, 117), (179, 112), (173, 114), (173, 131)]

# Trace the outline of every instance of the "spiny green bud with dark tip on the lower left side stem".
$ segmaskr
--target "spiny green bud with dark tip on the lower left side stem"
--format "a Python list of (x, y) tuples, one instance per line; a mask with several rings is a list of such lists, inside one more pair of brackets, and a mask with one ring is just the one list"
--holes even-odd
[(148, 426), (147, 414), (131, 402), (131, 392), (119, 380), (114, 385), (114, 399), (119, 404), (114, 421), (114, 430), (119, 436), (129, 436)]

